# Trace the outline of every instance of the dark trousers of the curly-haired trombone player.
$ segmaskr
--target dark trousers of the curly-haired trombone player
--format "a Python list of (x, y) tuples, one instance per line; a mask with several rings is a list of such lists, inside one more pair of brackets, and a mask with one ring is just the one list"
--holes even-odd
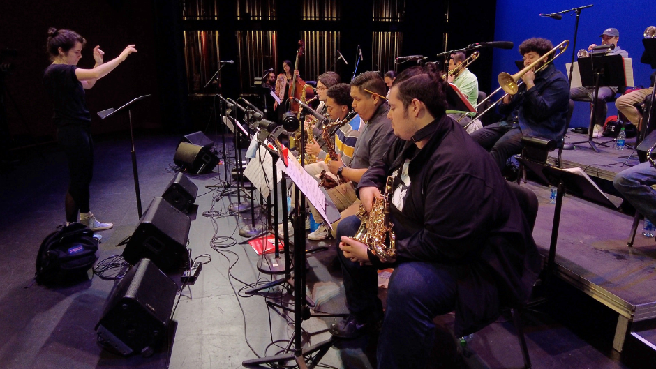
[(521, 153), (521, 130), (518, 124), (512, 124), (506, 121), (490, 124), (475, 132), (472, 132), (472, 139), (483, 149), (489, 151), (499, 169), (506, 166), (508, 159), (516, 153)]

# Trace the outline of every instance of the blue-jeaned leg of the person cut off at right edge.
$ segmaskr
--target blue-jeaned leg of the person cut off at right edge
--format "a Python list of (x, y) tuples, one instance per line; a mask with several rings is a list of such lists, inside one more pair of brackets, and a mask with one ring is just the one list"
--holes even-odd
[(656, 169), (641, 163), (619, 172), (613, 185), (636, 210), (656, 224)]

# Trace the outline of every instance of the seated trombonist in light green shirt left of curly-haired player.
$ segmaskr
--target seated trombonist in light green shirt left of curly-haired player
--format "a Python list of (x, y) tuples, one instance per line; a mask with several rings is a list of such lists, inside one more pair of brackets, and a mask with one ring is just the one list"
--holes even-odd
[[(455, 84), (467, 96), (469, 103), (475, 107), (478, 103), (478, 78), (463, 64), (466, 59), (464, 52), (451, 54), (451, 58), (449, 58), (449, 73), (451, 74), (448, 77), (448, 82)], [(468, 113), (463, 116), (453, 110), (447, 110), (447, 114), (458, 121), (461, 126), (467, 127), (465, 129), (468, 133), (472, 133), (483, 126), (480, 121), (469, 124), (476, 113)]]

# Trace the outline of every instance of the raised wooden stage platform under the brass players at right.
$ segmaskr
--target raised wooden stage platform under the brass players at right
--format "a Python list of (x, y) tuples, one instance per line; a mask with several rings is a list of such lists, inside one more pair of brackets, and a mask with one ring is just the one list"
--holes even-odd
[[(567, 136), (566, 142), (587, 139), (586, 135), (571, 132)], [(595, 142), (609, 140), (602, 137), (595, 139)], [(627, 140), (627, 144), (633, 145), (634, 142), (635, 139)], [(576, 144), (576, 149), (562, 151), (562, 167), (581, 167), (604, 191), (612, 194), (615, 175), (638, 164), (639, 160), (632, 147), (618, 151), (612, 141), (608, 146), (598, 146), (597, 153), (588, 143)], [(632, 157), (627, 160), (631, 154)], [(552, 163), (556, 155), (556, 152), (550, 154)], [(530, 187), (539, 198), (533, 236), (546, 259), (555, 205), (549, 204), (549, 188), (531, 181), (522, 183), (522, 186)], [(562, 280), (618, 314), (613, 341), (613, 348), (618, 352), (622, 351), (629, 333), (656, 348), (655, 332), (637, 332), (643, 326), (656, 326), (656, 241), (641, 235), (641, 222), (634, 246), (628, 247), (632, 221), (632, 216), (620, 211), (566, 195), (562, 204), (553, 271)]]

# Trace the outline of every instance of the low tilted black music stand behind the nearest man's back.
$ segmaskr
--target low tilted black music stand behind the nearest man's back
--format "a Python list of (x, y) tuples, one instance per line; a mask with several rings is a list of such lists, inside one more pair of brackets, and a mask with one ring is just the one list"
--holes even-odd
[[(556, 259), (556, 245), (558, 243), (558, 227), (560, 227), (560, 211), (562, 209), (562, 197), (565, 193), (569, 193), (579, 199), (584, 199), (589, 202), (594, 202), (605, 206), (609, 209), (617, 210), (618, 206), (614, 204), (611, 199), (606, 197), (604, 193), (599, 190), (589, 176), (583, 176), (575, 172), (568, 172), (558, 167), (552, 167), (549, 164), (536, 163), (532, 160), (519, 158), (521, 163), (532, 170), (539, 179), (544, 183), (549, 183), (551, 186), (558, 187), (556, 195), (556, 209), (553, 211), (553, 226), (551, 228), (551, 242), (549, 243), (549, 257), (547, 258), (546, 268), (551, 272), (555, 266), (554, 260)], [(580, 169), (580, 168), (579, 168)], [(582, 171), (582, 170), (581, 170)]]

